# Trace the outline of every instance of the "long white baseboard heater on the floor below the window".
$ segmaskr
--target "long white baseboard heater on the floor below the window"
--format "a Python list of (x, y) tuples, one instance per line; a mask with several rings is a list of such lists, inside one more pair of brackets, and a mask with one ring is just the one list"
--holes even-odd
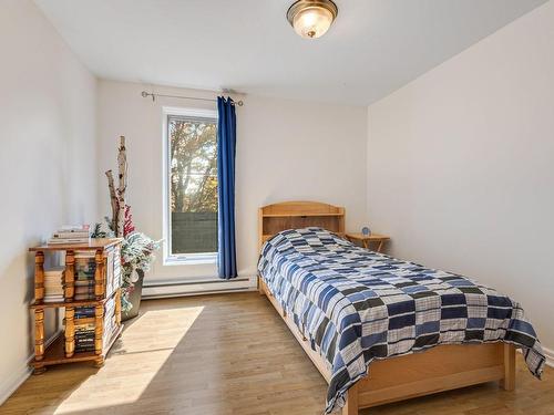
[(218, 278), (201, 280), (179, 280), (163, 282), (145, 282), (143, 299), (212, 294), (220, 292), (253, 291), (256, 289), (256, 276), (239, 277), (230, 280)]

